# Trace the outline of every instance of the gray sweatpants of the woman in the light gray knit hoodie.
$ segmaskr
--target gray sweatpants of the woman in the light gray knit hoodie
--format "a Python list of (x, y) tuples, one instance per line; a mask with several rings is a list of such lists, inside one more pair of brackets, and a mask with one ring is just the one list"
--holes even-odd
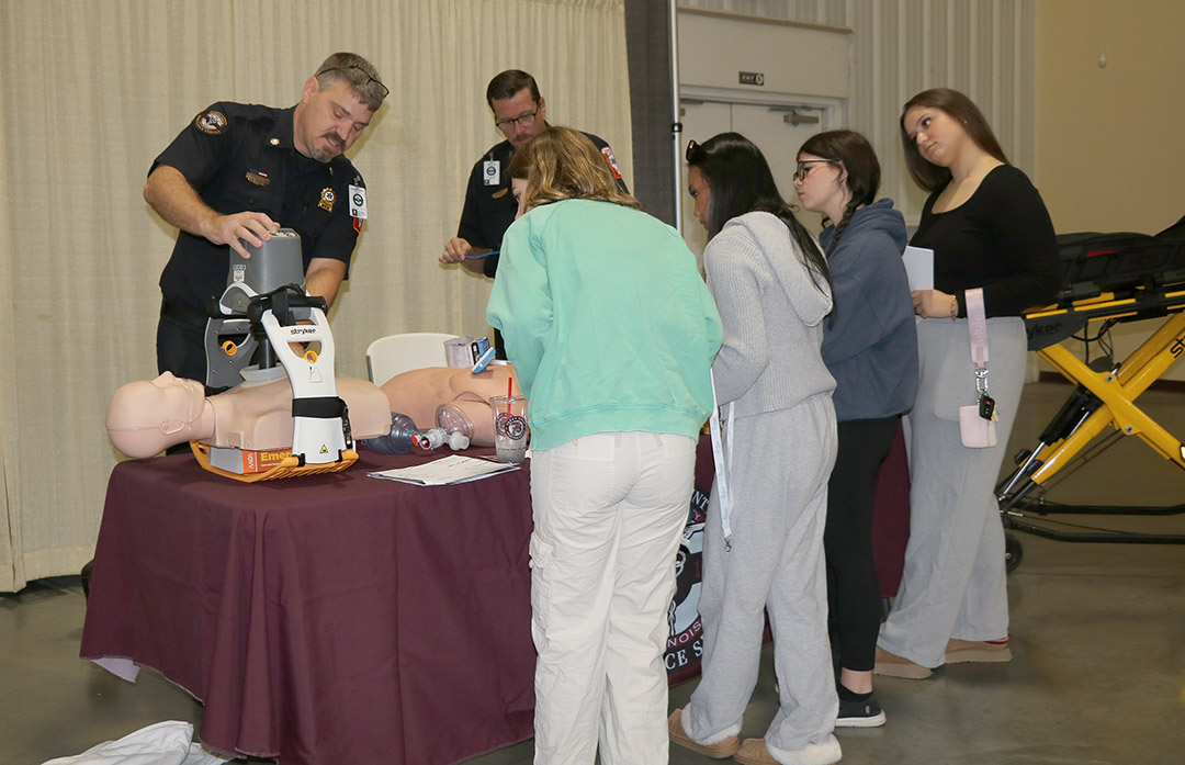
[(739, 417), (726, 438), (725, 455), (735, 450), (728, 473), (732, 549), (724, 549), (713, 487), (699, 595), (703, 676), (683, 712), (684, 728), (702, 744), (741, 731), (768, 610), (781, 696), (766, 745), (786, 765), (839, 760), (822, 553), (835, 442), (830, 394)]

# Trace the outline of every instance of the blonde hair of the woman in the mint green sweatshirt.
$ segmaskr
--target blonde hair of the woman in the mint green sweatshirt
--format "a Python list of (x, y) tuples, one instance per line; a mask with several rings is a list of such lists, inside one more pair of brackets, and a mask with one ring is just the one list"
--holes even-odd
[(537, 208), (563, 199), (611, 202), (635, 210), (641, 204), (622, 191), (609, 160), (578, 130), (549, 127), (514, 152), (511, 178), (526, 180), (524, 205)]

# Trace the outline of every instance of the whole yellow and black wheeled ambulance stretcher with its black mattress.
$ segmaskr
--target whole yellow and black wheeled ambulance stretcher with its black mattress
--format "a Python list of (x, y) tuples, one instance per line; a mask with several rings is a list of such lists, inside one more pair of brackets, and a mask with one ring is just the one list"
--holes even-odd
[[(1123, 436), (1139, 438), (1160, 457), (1185, 468), (1185, 446), (1136, 403), (1140, 394), (1185, 352), (1185, 238), (1174, 238), (1174, 229), (1157, 236), (1058, 237), (1063, 266), (1058, 301), (1029, 311), (1025, 324), (1029, 349), (1075, 383), (1075, 389), (1038, 444), (1017, 454), (1017, 468), (997, 486), (1006, 529), (1065, 542), (1185, 544), (1185, 534), (1097, 529), (1045, 517), (1185, 514), (1185, 504), (1084, 505), (1045, 499), (1046, 491)], [(1160, 320), (1160, 327), (1127, 358), (1113, 359), (1107, 352), (1110, 327), (1149, 320)], [(1062, 345), (1070, 337), (1085, 343), (1084, 359)], [(1103, 352), (1091, 359), (1091, 349)], [(1023, 550), (1016, 535), (1006, 534), (1005, 538), (1012, 570)]]

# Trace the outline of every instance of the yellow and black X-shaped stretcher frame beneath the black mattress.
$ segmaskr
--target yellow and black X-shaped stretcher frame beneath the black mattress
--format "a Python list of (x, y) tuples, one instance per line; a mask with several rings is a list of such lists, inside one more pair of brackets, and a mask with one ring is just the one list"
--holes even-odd
[[(1185, 470), (1185, 446), (1138, 404), (1136, 399), (1160, 378), (1185, 352), (1185, 285), (1168, 289), (1139, 288), (1128, 295), (1103, 293), (1066, 307), (1048, 306), (1029, 311), (1026, 319), (1072, 317), (1097, 321), (1132, 321), (1162, 318), (1160, 327), (1112, 369), (1096, 371), (1062, 344), (1037, 351), (1066, 380), (1076, 383), (1063, 410), (1050, 423), (1036, 448), (1018, 459), (1017, 470), (997, 486), (997, 499), (1006, 528), (1070, 542), (1123, 542), (1185, 544), (1185, 534), (1136, 534), (1091, 530), (1061, 531), (1029, 523), (1030, 512), (1077, 515), (1180, 515), (1185, 504), (1168, 506), (1065, 505), (1039, 497), (1055, 476), (1085, 458), (1087, 448), (1110, 428), (1110, 436), (1134, 435), (1164, 459)], [(1061, 419), (1061, 423), (1058, 420)], [(1038, 495), (1035, 499), (1033, 495)], [(1008, 569), (1019, 563), (1019, 542), (1008, 535)]]

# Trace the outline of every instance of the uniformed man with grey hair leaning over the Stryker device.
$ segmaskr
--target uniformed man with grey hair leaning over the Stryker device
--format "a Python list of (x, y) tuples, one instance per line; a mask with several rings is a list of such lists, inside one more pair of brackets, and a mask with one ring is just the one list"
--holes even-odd
[(366, 218), (366, 184), (346, 149), (387, 95), (374, 66), (334, 53), (287, 109), (213, 103), (161, 152), (145, 200), (180, 231), (160, 276), (156, 368), (206, 378), (205, 305), (226, 287), (230, 253), (248, 257), (280, 227), (301, 237), (305, 285), (329, 305)]

